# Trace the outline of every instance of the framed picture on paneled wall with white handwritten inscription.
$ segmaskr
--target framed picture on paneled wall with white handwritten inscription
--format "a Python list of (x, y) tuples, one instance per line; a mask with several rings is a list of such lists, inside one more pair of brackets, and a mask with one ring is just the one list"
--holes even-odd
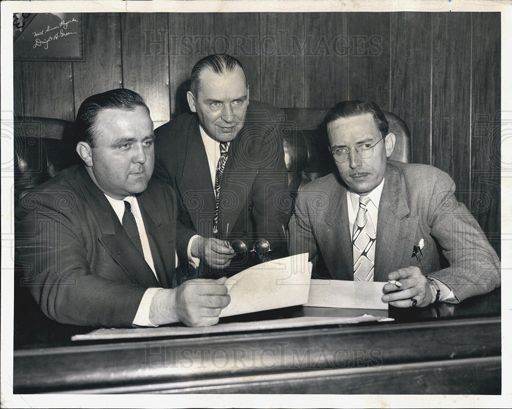
[(13, 13), (14, 60), (83, 61), (82, 13)]

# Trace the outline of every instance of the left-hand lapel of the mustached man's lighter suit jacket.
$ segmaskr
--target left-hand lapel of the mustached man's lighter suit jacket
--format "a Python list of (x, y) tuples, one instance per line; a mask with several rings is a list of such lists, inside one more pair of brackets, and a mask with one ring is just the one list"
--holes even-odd
[[(336, 174), (336, 179), (338, 175)], [(333, 184), (330, 207), (326, 212), (325, 222), (332, 227), (332, 243), (327, 248), (334, 251), (332, 257), (324, 255), (327, 267), (336, 280), (349, 280), (353, 276), (352, 239), (348, 223), (347, 190), (337, 180)], [(347, 245), (348, 243), (348, 245)], [(348, 273), (347, 273), (348, 272)]]

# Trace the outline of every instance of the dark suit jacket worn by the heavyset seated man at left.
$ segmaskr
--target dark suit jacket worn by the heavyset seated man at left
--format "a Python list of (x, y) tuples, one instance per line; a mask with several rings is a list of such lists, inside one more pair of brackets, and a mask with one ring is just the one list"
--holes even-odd
[(48, 317), (131, 326), (147, 288), (174, 286), (175, 194), (152, 180), (137, 201), (160, 282), (84, 166), (59, 172), (22, 198), (16, 261)]

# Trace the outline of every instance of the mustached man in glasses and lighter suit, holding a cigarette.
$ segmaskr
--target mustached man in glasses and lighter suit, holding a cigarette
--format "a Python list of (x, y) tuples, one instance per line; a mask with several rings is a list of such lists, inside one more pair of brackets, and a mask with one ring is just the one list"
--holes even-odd
[(383, 285), (382, 301), (398, 307), (500, 285), (500, 260), (450, 176), (387, 159), (395, 136), (376, 104), (339, 103), (324, 124), (338, 172), (298, 192), (291, 254), (309, 252), (323, 278), (396, 280)]

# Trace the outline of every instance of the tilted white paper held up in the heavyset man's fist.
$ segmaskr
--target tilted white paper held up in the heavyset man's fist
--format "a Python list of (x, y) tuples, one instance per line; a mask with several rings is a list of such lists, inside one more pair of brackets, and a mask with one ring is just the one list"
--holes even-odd
[(310, 281), (308, 253), (254, 265), (226, 280), (231, 301), (220, 317), (302, 305)]

